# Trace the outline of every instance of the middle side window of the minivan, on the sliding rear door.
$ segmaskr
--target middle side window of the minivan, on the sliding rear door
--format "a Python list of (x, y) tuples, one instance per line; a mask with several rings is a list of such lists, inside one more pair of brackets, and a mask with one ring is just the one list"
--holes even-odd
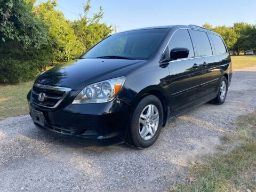
[(191, 30), (196, 51), (199, 57), (212, 55), (212, 47), (207, 34), (203, 31)]

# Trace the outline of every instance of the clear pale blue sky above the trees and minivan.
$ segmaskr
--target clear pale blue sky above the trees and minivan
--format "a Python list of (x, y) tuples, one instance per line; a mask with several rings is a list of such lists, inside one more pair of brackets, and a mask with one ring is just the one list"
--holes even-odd
[[(44, 0), (45, 1), (45, 0)], [(43, 1), (43, 2), (44, 2)], [(37, 1), (42, 2), (42, 0)], [(79, 19), (86, 0), (57, 0), (57, 10), (69, 20)], [(119, 26), (118, 31), (162, 26), (198, 25), (233, 26), (234, 22), (256, 24), (256, 0), (91, 0), (89, 16), (102, 6), (107, 25)]]

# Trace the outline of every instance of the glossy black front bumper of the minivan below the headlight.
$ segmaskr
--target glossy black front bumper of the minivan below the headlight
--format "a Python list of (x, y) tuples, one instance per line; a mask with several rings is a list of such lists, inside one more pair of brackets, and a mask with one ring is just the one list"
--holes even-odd
[(117, 145), (125, 141), (130, 105), (122, 100), (69, 104), (55, 110), (36, 106), (31, 100), (28, 105), (44, 114), (44, 125), (34, 122), (36, 127), (54, 136), (93, 146)]

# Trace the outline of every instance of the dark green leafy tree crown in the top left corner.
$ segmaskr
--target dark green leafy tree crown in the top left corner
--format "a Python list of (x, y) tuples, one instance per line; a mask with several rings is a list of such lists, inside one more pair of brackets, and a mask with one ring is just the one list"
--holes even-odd
[(27, 49), (39, 49), (48, 44), (47, 26), (34, 17), (32, 6), (22, 0), (3, 0), (0, 2), (0, 37), (3, 42)]

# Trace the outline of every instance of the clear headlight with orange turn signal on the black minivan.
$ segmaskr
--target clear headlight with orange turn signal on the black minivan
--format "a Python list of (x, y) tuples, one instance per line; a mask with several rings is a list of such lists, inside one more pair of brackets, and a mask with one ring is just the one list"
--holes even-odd
[(124, 85), (125, 77), (117, 77), (86, 86), (75, 98), (72, 104), (101, 103), (115, 98)]

